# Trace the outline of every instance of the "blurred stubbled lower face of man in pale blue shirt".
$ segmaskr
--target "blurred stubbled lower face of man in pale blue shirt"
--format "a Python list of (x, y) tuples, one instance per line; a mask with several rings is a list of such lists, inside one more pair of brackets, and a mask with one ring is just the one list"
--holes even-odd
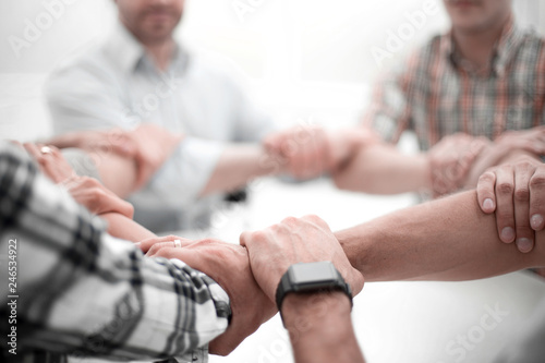
[(145, 45), (168, 40), (185, 0), (116, 0), (121, 22)]

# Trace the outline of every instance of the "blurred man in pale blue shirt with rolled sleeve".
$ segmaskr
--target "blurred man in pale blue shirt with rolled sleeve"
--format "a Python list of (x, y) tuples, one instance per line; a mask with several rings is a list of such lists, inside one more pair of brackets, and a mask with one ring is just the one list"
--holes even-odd
[[(114, 2), (119, 24), (108, 40), (62, 64), (47, 82), (55, 132), (131, 130), (148, 122), (182, 134), (130, 201), (136, 220), (155, 231), (205, 228), (223, 193), (279, 172), (259, 145), (276, 129), (221, 66), (174, 40), (184, 0)], [(323, 131), (295, 128), (293, 137), (300, 129), (306, 159), (293, 174), (312, 178), (338, 164)], [(293, 137), (295, 146), (302, 143)], [(144, 146), (140, 154), (145, 159), (153, 152)]]

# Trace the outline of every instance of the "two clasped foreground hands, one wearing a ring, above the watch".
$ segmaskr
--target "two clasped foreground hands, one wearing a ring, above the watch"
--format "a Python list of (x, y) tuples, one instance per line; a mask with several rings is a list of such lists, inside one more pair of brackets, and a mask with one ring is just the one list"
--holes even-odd
[[(181, 247), (174, 247), (174, 240), (180, 240)], [(276, 289), (293, 264), (330, 261), (354, 294), (363, 288), (363, 276), (350, 265), (331, 230), (318, 217), (287, 218), (265, 230), (242, 233), (240, 242), (169, 235), (138, 244), (149, 257), (178, 258), (205, 273), (229, 294), (231, 324), (210, 342), (210, 353), (229, 354), (276, 314)]]

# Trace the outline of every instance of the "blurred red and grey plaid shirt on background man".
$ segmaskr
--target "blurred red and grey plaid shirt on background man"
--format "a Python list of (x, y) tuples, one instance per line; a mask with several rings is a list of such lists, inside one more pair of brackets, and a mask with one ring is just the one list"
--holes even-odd
[(511, 19), (495, 49), (483, 76), (464, 65), (450, 33), (434, 37), (380, 80), (364, 123), (390, 143), (414, 131), (422, 150), (458, 132), (495, 140), (544, 124), (544, 39)]

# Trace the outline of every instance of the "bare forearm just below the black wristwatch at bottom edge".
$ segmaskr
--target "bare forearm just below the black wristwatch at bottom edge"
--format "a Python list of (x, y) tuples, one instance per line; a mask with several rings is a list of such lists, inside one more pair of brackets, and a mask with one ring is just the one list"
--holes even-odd
[(288, 294), (282, 318), (296, 363), (364, 362), (342, 292)]

